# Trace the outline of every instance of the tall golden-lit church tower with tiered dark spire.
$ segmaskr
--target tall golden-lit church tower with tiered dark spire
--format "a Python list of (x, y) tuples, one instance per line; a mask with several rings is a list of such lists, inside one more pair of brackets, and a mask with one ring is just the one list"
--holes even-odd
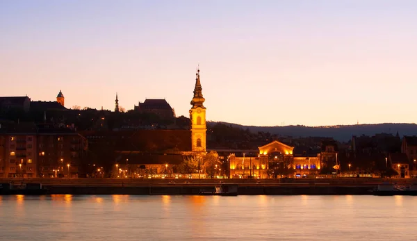
[(199, 69), (195, 74), (194, 97), (191, 101), (190, 122), (191, 122), (191, 150), (206, 152), (206, 108), (203, 106), (202, 83), (199, 79)]

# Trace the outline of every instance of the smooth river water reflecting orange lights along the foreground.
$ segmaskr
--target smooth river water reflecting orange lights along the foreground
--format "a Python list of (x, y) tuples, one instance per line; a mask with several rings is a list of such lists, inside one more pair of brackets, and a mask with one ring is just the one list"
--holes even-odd
[(412, 240), (416, 203), (352, 195), (0, 196), (0, 240)]

